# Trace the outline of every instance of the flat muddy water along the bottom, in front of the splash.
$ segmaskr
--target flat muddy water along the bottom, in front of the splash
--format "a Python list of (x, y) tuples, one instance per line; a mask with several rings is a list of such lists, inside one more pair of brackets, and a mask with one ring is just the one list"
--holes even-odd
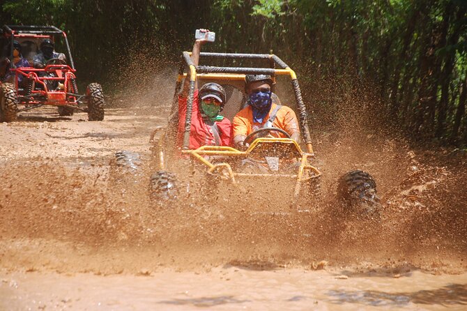
[[(141, 274), (144, 274), (143, 271)], [(238, 267), (146, 275), (0, 273), (4, 310), (465, 310), (467, 274)]]

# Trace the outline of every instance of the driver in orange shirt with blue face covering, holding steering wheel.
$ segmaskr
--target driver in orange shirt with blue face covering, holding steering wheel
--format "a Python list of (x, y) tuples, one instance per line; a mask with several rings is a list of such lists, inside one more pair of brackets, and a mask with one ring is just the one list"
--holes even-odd
[[(280, 128), (285, 130), (291, 139), (299, 142), (300, 130), (297, 116), (287, 106), (280, 105), (273, 96), (271, 87), (273, 78), (270, 75), (245, 75), (245, 92), (248, 96), (247, 107), (240, 110), (232, 121), (234, 145), (237, 149), (245, 149), (245, 137), (260, 128)], [(273, 137), (286, 137), (281, 132), (270, 131)]]

